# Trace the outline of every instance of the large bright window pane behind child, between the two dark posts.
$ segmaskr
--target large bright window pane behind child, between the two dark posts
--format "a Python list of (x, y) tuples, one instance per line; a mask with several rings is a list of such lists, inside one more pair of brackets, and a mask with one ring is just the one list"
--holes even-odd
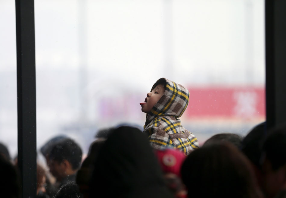
[(190, 91), (182, 125), (202, 144), (265, 120), (264, 1), (35, 1), (37, 145), (143, 128), (160, 77)]

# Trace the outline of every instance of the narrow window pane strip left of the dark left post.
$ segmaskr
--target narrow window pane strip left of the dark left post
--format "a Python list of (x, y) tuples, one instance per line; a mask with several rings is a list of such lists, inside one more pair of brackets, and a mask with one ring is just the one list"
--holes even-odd
[(15, 2), (0, 1), (0, 143), (17, 154), (17, 59)]

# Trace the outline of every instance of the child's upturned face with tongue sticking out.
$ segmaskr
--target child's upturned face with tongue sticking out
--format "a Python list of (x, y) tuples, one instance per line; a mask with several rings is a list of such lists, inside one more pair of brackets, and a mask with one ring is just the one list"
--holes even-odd
[(155, 87), (154, 90), (147, 93), (145, 101), (140, 103), (141, 111), (144, 113), (150, 112), (154, 105), (158, 102), (158, 100), (163, 96), (164, 92), (164, 85), (159, 84)]

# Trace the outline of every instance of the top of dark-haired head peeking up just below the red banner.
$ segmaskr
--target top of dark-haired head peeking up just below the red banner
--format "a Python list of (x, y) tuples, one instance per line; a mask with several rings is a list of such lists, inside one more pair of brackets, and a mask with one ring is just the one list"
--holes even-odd
[(238, 134), (232, 133), (223, 133), (223, 134), (216, 134), (210, 137), (207, 141), (205, 141), (203, 146), (210, 145), (214, 142), (229, 142), (236, 146), (238, 149), (241, 147), (241, 141), (243, 137)]

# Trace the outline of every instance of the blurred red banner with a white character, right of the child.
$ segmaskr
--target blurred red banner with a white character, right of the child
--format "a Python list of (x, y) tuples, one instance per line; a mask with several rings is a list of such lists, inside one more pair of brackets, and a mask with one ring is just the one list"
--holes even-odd
[(265, 117), (265, 87), (189, 87), (187, 117)]

